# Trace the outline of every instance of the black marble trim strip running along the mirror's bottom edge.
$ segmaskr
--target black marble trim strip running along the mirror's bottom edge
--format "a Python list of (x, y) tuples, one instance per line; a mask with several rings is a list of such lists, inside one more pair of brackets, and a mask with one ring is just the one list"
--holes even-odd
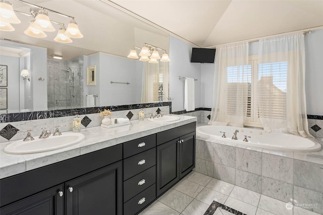
[(110, 109), (111, 111), (120, 111), (120, 110), (133, 110), (133, 109), (162, 107), (162, 106), (170, 106), (170, 113), (172, 113), (172, 102), (157, 102), (157, 103), (131, 104), (131, 105), (112, 105), (112, 106), (91, 107), (91, 108), (75, 108), (75, 109), (64, 109), (64, 110), (33, 111), (33, 112), (23, 112), (23, 113), (4, 113), (4, 114), (0, 114), (0, 123), (74, 116), (76, 114), (85, 115), (85, 114), (91, 114), (91, 113), (99, 113), (104, 109)]

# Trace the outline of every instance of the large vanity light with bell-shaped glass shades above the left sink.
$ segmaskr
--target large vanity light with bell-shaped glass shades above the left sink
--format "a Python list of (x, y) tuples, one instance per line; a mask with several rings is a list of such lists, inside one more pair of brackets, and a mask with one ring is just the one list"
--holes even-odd
[[(80, 32), (78, 25), (74, 17), (52, 11), (50, 9), (37, 6), (32, 3), (25, 2), (23, 0), (16, 0), (17, 2), (31, 6), (29, 14), (14, 11), (12, 4), (8, 0), (0, 0), (0, 30), (1, 31), (14, 31), (14, 27), (11, 24), (18, 24), (21, 21), (16, 16), (16, 13), (22, 14), (25, 16), (32, 17), (33, 20), (30, 22), (30, 25), (24, 33), (32, 37), (46, 37), (47, 35), (44, 31), (53, 32), (56, 29), (52, 26), (52, 23), (60, 25), (60, 30), (55, 37), (55, 41), (61, 43), (71, 43), (73, 42), (71, 38), (82, 38), (83, 34)], [(67, 29), (64, 27), (63, 23), (52, 21), (49, 19), (48, 12), (57, 14), (70, 19)]]

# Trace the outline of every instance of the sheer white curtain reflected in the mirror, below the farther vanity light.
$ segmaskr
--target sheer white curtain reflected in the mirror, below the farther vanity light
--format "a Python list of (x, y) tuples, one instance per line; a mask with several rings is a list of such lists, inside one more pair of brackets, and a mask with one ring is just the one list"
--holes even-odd
[(143, 62), (143, 64), (141, 103), (165, 101), (169, 97), (169, 63)]

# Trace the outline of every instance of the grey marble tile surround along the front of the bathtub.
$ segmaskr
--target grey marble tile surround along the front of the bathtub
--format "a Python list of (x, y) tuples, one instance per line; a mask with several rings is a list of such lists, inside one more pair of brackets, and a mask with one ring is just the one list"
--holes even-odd
[[(316, 141), (322, 144), (323, 138)], [(322, 150), (312, 153), (272, 151), (234, 142), (228, 144), (226, 140), (197, 133), (194, 171), (323, 213)], [(306, 207), (306, 203), (317, 203), (317, 206)]]

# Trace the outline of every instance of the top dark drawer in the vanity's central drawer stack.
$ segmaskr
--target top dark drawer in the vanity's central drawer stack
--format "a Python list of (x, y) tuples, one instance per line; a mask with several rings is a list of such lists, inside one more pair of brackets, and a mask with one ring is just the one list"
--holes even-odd
[(156, 146), (156, 134), (134, 139), (123, 144), (123, 158), (136, 155)]

